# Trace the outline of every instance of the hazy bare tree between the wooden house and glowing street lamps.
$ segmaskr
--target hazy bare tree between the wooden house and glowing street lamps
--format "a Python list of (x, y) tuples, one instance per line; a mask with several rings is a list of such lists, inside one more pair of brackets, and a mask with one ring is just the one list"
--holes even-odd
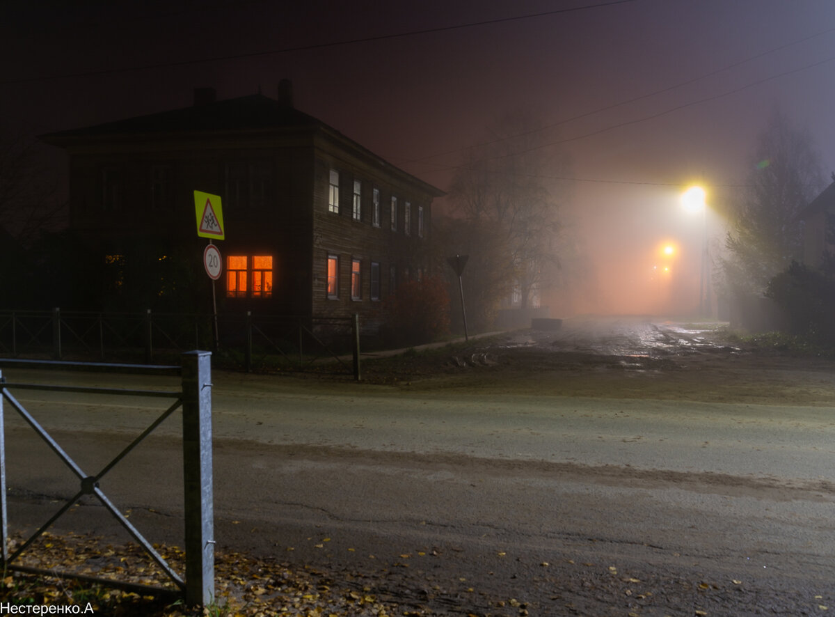
[(554, 178), (568, 163), (544, 147), (543, 135), (529, 116), (506, 116), (493, 125), (488, 143), (468, 152), (453, 179), (450, 196), (471, 253), (468, 275), (485, 305), (516, 288), (527, 308), (559, 264)]

